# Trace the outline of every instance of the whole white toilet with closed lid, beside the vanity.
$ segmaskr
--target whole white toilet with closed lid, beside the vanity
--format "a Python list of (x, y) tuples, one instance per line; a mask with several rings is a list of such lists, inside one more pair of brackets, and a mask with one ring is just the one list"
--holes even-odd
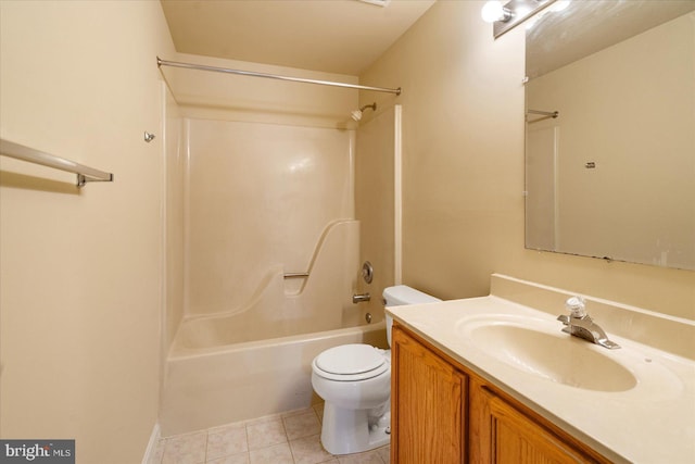
[[(405, 285), (383, 290), (387, 306), (441, 301)], [(391, 346), (393, 318), (387, 315)], [(350, 454), (389, 443), (391, 432), (391, 350), (365, 343), (330, 348), (312, 362), (312, 386), (325, 401), (321, 444), (331, 454)]]

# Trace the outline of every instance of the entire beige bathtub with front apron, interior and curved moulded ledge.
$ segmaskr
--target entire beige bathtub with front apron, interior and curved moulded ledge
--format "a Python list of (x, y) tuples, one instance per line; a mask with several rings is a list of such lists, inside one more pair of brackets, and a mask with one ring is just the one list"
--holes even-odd
[(164, 437), (308, 407), (320, 401), (311, 381), (317, 354), (344, 343), (388, 347), (383, 310), (366, 324), (368, 306), (352, 302), (358, 238), (358, 221), (337, 221), (306, 276), (274, 266), (243, 305), (180, 322), (164, 363)]

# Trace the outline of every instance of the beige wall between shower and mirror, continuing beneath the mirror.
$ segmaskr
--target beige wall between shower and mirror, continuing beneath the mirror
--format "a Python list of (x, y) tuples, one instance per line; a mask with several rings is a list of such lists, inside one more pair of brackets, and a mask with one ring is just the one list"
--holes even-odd
[(482, 4), (437, 2), (361, 76), (403, 87), (377, 100), (403, 104), (404, 284), (481, 296), (498, 272), (695, 318), (693, 272), (525, 250), (523, 28), (493, 40)]

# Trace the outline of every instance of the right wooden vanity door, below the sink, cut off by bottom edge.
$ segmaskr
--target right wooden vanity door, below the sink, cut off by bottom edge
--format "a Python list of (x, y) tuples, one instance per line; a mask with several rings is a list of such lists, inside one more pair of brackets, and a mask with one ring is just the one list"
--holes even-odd
[(495, 464), (556, 464), (606, 462), (570, 443), (539, 418), (471, 380), (471, 462)]

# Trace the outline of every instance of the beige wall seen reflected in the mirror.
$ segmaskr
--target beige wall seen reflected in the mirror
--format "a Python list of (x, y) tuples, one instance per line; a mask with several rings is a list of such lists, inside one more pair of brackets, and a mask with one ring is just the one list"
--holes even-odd
[(690, 13), (527, 84), (560, 113), (529, 127), (559, 135), (557, 250), (695, 268), (694, 70)]

